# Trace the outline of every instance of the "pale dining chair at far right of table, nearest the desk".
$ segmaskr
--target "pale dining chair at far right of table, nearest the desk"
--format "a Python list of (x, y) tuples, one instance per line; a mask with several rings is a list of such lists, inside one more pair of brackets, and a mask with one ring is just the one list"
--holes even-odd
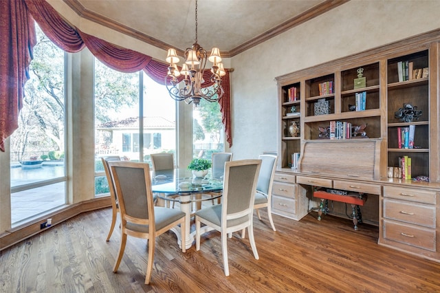
[(260, 217), (260, 208), (267, 208), (267, 216), (269, 217), (272, 230), (276, 231), (274, 220), (272, 219), (272, 184), (274, 183), (274, 175), (276, 169), (276, 155), (259, 155), (261, 160), (261, 169), (259, 173), (259, 180), (256, 184), (256, 193), (254, 201), (254, 209), (256, 215)]

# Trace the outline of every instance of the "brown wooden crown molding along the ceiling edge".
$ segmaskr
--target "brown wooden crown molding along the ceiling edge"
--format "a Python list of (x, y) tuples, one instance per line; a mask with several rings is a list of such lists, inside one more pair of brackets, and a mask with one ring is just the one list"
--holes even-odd
[[(131, 36), (135, 39), (138, 39), (140, 41), (143, 41), (145, 43), (148, 43), (165, 51), (168, 50), (169, 47), (173, 47), (172, 45), (160, 41), (158, 39), (155, 39), (152, 36), (148, 36), (147, 34), (144, 34), (138, 30), (133, 30), (133, 28), (129, 28), (128, 26), (122, 23), (118, 23), (117, 21), (113, 21), (112, 19), (109, 19), (96, 12), (88, 10), (78, 0), (63, 0), (63, 1), (67, 4), (67, 6), (69, 6), (69, 8), (71, 8), (74, 12), (76, 12), (76, 14), (78, 14), (79, 17), (83, 19), (93, 21), (94, 23), (103, 25), (104, 27), (110, 28), (111, 30), (115, 30), (116, 32), (121, 32), (122, 34), (126, 34), (127, 36)], [(267, 32), (263, 32), (263, 34), (254, 37), (250, 41), (247, 41), (235, 47), (229, 52), (222, 51), (221, 56), (225, 58), (236, 56), (237, 54), (240, 54), (245, 50), (250, 49), (251, 47), (259, 45), (267, 41), (268, 39), (272, 39), (274, 36), (277, 36), (278, 34), (282, 34), (283, 32), (286, 32), (287, 30), (290, 30), (291, 28), (294, 28), (295, 26), (300, 25), (301, 23), (305, 23), (306, 21), (314, 19), (314, 17), (318, 17), (320, 14), (325, 13), (333, 8), (336, 8), (344, 3), (347, 3), (348, 1), (350, 0), (327, 0), (325, 2), (322, 2), (317, 6), (314, 6), (313, 8), (310, 8), (309, 10), (303, 12), (302, 14), (298, 14), (296, 17), (293, 17), (292, 19), (289, 19), (284, 23), (277, 25), (275, 28), (272, 28)], [(176, 49), (176, 51), (178, 55), (181, 56), (184, 55), (183, 50)]]

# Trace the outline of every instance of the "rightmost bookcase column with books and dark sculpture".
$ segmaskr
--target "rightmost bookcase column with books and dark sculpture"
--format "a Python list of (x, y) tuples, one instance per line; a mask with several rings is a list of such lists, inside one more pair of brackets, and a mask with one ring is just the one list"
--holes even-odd
[[(387, 164), (388, 170), (397, 170), (387, 175), (397, 180), (430, 180), (428, 50), (391, 58), (387, 65)], [(405, 176), (401, 170), (408, 169), (408, 160), (410, 175)]]

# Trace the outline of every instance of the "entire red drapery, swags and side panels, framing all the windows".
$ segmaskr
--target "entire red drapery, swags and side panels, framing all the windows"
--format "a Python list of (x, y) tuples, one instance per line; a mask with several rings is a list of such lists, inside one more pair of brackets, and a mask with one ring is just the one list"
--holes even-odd
[[(36, 43), (32, 17), (39, 23), (46, 36), (61, 49), (67, 52), (79, 52), (87, 46), (98, 60), (112, 69), (126, 73), (137, 72), (142, 69), (157, 83), (165, 84), (168, 64), (155, 61), (151, 56), (113, 45), (95, 36), (80, 32), (80, 30), (67, 23), (45, 0), (0, 0), (0, 3), (0, 32), (6, 34), (1, 38), (0, 149), (2, 151), (4, 151), (3, 140), (17, 129), (23, 87), (27, 80), (25, 72), (31, 60), (32, 47)], [(16, 15), (19, 15), (19, 17)], [(206, 70), (203, 74), (203, 79), (206, 82), (203, 85), (212, 84), (210, 75), (210, 70)], [(225, 125), (227, 141), (232, 145), (229, 74), (223, 77), (222, 84), (225, 89), (225, 94), (221, 98), (221, 105), (223, 105), (221, 107), (222, 121)], [(19, 85), (21, 86), (19, 87)]]

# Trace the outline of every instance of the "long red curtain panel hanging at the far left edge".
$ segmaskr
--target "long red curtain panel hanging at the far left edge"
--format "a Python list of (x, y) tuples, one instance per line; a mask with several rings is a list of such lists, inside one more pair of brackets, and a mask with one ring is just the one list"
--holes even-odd
[(24, 86), (36, 44), (34, 20), (23, 1), (0, 1), (0, 150), (18, 127)]

